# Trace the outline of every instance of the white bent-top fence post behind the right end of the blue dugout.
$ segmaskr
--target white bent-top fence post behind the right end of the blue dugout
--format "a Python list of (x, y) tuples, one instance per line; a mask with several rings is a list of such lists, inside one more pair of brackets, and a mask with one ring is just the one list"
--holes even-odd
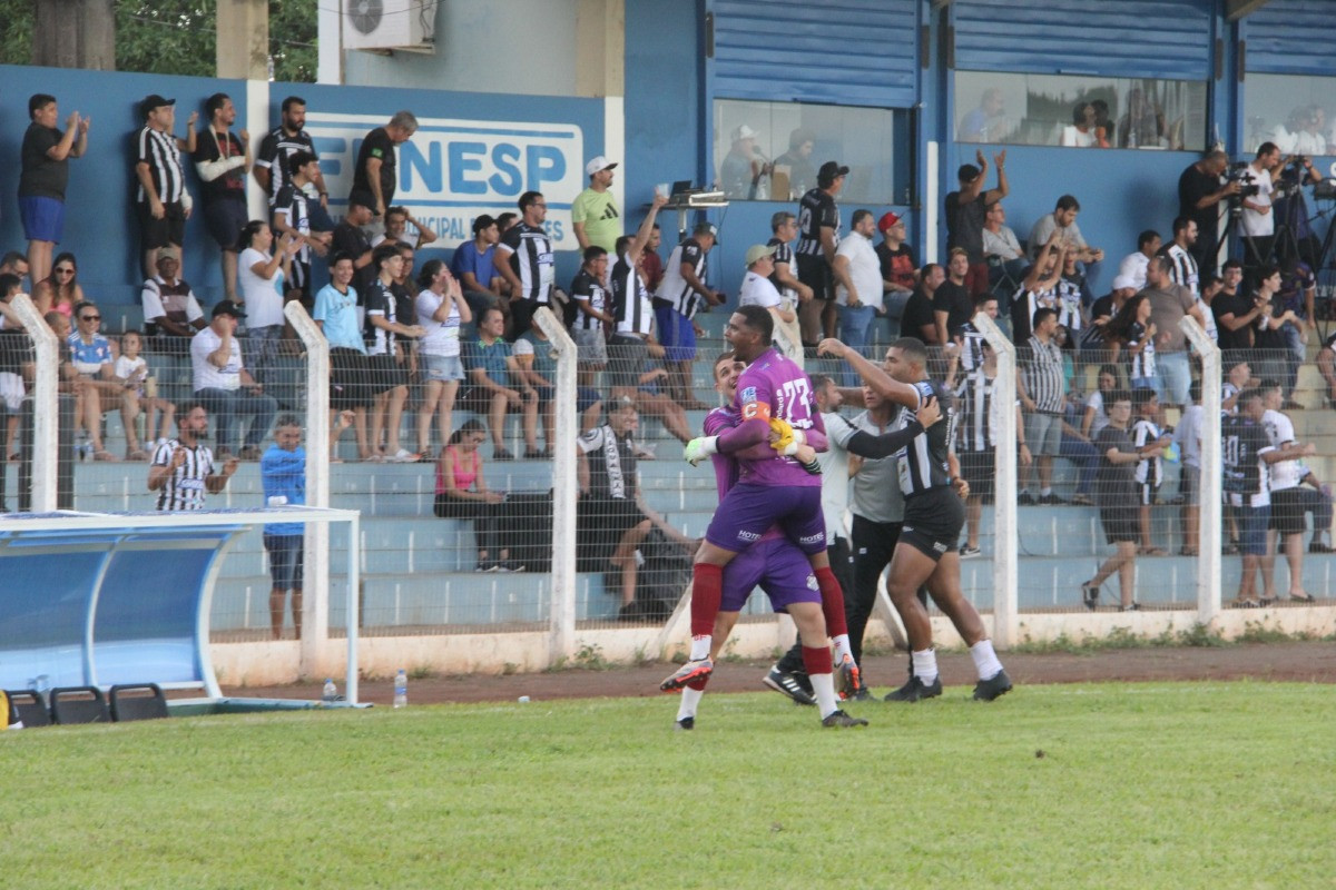
[[(330, 506), (330, 344), (306, 312), (299, 300), (289, 300), (283, 315), (306, 350), (306, 504)], [(357, 550), (354, 535), (357, 523), (349, 528), (349, 550)], [(330, 528), (321, 523), (306, 531), (303, 554), (302, 639), (299, 643), (299, 670), (302, 677), (327, 677), (331, 671), (322, 664), (325, 643), (330, 632)], [(355, 575), (349, 575), (349, 583)], [(357, 588), (349, 587), (349, 643), (353, 627), (353, 603)], [(347, 691), (355, 701), (355, 690)]]

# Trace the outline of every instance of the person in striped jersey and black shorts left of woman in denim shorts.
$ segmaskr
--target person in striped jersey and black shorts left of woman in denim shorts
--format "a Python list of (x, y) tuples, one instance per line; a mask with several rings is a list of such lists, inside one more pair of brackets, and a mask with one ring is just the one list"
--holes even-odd
[[(405, 368), (407, 344), (403, 339), (415, 340), (426, 334), (420, 324), (405, 324), (399, 320), (399, 300), (391, 284), (403, 271), (403, 255), (394, 244), (375, 248), (373, 264), (377, 278), (366, 295), (366, 323), (363, 335), (367, 343), (367, 366), (370, 367), (371, 394), (371, 459), (394, 463), (411, 463), (418, 459), (407, 448), (399, 447), (399, 428), (403, 419), (403, 403), (409, 398), (409, 375)], [(415, 322), (415, 318), (405, 320)], [(381, 448), (381, 435), (385, 435), (385, 448)]]

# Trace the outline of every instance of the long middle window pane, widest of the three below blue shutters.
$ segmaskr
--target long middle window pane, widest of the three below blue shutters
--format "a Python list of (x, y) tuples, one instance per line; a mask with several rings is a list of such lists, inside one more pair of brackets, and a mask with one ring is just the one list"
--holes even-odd
[(955, 72), (955, 139), (1070, 148), (1197, 149), (1206, 84), (1153, 77)]

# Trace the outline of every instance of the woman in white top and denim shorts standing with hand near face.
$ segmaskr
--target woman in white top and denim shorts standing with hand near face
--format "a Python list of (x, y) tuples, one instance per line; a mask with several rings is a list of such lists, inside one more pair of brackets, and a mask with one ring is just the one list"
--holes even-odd
[(418, 408), (418, 454), (426, 459), (432, 448), (432, 414), (437, 414), (441, 444), (450, 440), (454, 396), (464, 379), (460, 362), (460, 326), (473, 320), (473, 312), (464, 299), (464, 288), (441, 260), (428, 260), (418, 272), (418, 324), (426, 334), (418, 340), (426, 394)]

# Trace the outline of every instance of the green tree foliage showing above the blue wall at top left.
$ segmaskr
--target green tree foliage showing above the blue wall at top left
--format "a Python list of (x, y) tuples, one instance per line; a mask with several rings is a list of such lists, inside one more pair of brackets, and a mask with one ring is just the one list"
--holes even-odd
[[(0, 0), (0, 64), (32, 64), (35, 0)], [(43, 1), (43, 0), (36, 0)], [(116, 69), (212, 77), (216, 73), (215, 0), (116, 3)], [(317, 0), (270, 0), (269, 52), (274, 79), (313, 83)]]

